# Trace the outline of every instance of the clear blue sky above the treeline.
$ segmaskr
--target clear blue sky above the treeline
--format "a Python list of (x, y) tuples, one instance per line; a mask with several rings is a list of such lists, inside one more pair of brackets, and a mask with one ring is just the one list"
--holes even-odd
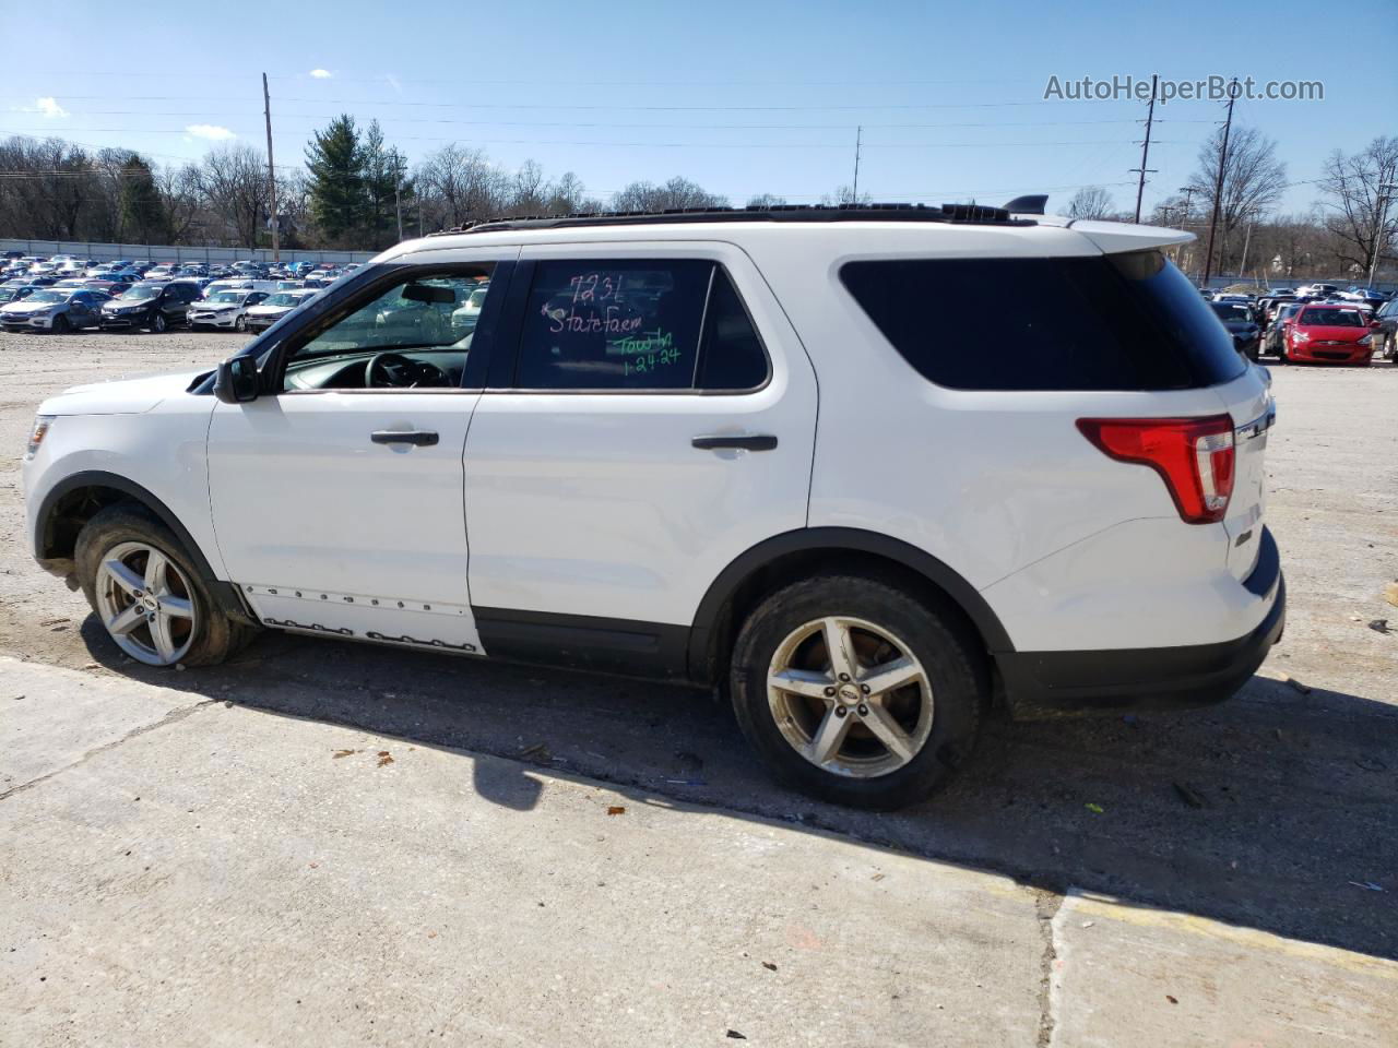
[[(396, 14), (401, 11), (401, 14)], [(70, 27), (74, 31), (69, 32)], [(1324, 32), (1316, 32), (1318, 28)], [(1398, 133), (1398, 4), (414, 3), (359, 0), (0, 6), (8, 48), (0, 136), (59, 134), (197, 158), (235, 137), (264, 147), (271, 78), (278, 165), (340, 112), (377, 117), (411, 159), (456, 141), (506, 169), (538, 161), (589, 193), (684, 175), (744, 203), (814, 203), (849, 183), (879, 200), (1062, 207), (1102, 184), (1134, 204), (1145, 105), (1043, 101), (1050, 75), (1318, 80), (1323, 102), (1239, 102), (1293, 182), (1325, 154)], [(313, 74), (313, 71), (316, 71)], [(1145, 205), (1184, 184), (1222, 119), (1158, 106)], [(229, 138), (231, 140), (231, 138)], [(1120, 183), (1120, 184), (1118, 184)], [(1310, 186), (1288, 191), (1303, 210)]]

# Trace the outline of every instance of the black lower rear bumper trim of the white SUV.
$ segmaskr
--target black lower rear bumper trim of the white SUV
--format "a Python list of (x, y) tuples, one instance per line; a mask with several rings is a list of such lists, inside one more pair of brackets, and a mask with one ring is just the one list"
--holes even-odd
[(1167, 648), (997, 654), (1011, 713), (1033, 720), (1209, 706), (1232, 697), (1286, 626), (1286, 580), (1271, 531), (1262, 531), (1257, 567), (1241, 584), (1257, 597), (1271, 597), (1272, 605), (1257, 629), (1236, 640)]

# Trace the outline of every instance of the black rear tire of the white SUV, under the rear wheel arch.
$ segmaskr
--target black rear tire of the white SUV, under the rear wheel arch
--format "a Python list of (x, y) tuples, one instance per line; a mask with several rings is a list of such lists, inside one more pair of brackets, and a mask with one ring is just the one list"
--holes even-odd
[[(830, 665), (829, 623), (854, 654), (846, 665), (853, 679)], [(963, 630), (902, 590), (863, 576), (816, 576), (748, 615), (730, 692), (742, 734), (781, 783), (821, 801), (891, 810), (945, 785), (974, 749), (988, 697), (979, 664)], [(805, 690), (769, 686), (772, 672)], [(879, 676), (895, 675), (907, 682), (879, 693)], [(863, 690), (865, 681), (872, 693)], [(884, 742), (891, 727), (902, 753)], [(818, 763), (822, 736), (835, 742)]]

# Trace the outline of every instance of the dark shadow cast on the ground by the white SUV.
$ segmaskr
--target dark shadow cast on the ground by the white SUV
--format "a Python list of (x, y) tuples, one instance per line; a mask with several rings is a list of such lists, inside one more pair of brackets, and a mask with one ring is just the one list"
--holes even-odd
[(222, 667), (103, 667), (274, 714), (470, 750), (481, 796), (528, 812), (551, 776), (1398, 959), (1398, 706), (1254, 676), (1172, 714), (993, 720), (942, 794), (895, 813), (774, 785), (731, 711), (679, 686), (264, 634)]

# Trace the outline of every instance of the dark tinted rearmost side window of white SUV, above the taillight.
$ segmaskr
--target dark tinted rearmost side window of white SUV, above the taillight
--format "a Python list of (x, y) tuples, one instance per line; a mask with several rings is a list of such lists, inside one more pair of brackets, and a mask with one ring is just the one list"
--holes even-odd
[(949, 388), (1192, 388), (1246, 367), (1159, 252), (856, 261), (840, 278), (903, 359)]

